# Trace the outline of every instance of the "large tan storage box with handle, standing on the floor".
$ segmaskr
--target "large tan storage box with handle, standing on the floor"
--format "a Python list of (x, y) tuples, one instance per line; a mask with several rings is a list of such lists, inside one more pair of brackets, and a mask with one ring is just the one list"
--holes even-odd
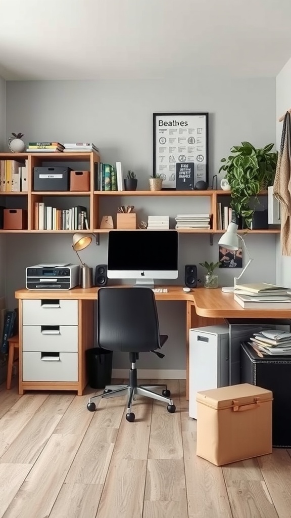
[(272, 399), (249, 383), (197, 392), (197, 455), (222, 466), (272, 453)]

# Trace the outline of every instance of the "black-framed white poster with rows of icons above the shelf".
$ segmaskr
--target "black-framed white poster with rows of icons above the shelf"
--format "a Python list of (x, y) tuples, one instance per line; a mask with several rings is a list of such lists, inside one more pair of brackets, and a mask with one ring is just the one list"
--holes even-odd
[(208, 113), (153, 113), (153, 176), (163, 178), (163, 189), (176, 189), (181, 167), (194, 168), (194, 185), (208, 184)]

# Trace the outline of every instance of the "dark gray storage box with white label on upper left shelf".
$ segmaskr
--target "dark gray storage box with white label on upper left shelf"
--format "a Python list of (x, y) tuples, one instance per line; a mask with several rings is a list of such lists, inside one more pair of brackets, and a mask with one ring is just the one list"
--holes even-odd
[(34, 191), (68, 191), (70, 188), (70, 167), (34, 167)]

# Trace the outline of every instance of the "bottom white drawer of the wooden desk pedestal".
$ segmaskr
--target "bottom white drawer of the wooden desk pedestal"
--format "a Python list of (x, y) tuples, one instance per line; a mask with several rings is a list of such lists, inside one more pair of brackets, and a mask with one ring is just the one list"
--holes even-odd
[(24, 351), (22, 381), (78, 381), (78, 353)]

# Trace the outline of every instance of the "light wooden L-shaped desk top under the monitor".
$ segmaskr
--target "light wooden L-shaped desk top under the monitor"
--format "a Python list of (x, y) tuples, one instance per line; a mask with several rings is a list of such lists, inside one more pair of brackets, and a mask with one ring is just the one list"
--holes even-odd
[[(111, 287), (111, 286), (110, 286)], [(117, 287), (124, 287), (117, 286)], [(167, 287), (167, 293), (155, 293), (156, 300), (184, 300), (195, 306), (196, 314), (206, 318), (291, 318), (290, 309), (243, 309), (234, 300), (231, 293), (223, 293), (220, 288), (195, 288), (190, 293), (183, 292), (183, 286)], [(17, 290), (17, 299), (80, 299), (95, 300), (98, 297), (98, 287), (76, 287), (66, 291)]]

